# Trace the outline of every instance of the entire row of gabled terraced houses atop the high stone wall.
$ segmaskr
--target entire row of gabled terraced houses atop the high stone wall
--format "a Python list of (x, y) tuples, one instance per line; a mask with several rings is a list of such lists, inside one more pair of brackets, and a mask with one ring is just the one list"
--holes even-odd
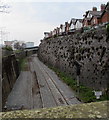
[[(100, 11), (97, 10), (97, 7), (93, 7), (92, 10), (86, 11), (83, 15), (83, 19), (72, 18), (70, 22), (65, 22), (65, 24), (60, 24), (59, 27), (51, 31), (51, 34), (45, 34), (44, 38), (49, 38), (54, 35), (66, 35), (74, 33), (75, 30), (80, 30), (81, 28), (91, 28), (99, 24), (105, 24), (109, 22), (109, 2), (101, 4)], [(48, 36), (48, 37), (47, 37)]]

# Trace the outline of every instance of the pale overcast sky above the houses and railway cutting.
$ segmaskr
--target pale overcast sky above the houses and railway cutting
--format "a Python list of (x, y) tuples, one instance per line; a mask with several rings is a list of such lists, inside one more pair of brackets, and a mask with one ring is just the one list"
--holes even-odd
[(33, 41), (35, 45), (39, 45), (44, 32), (53, 30), (71, 18), (83, 18), (83, 14), (93, 6), (100, 10), (100, 5), (108, 2), (107, 0), (36, 1), (14, 0), (8, 3), (11, 6), (8, 9), (10, 12), (0, 13), (0, 30), (6, 32), (2, 35), (4, 40)]

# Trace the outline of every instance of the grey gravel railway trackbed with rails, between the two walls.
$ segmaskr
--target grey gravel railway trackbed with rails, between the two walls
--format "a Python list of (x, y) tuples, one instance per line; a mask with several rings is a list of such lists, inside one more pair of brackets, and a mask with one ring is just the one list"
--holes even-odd
[(37, 57), (28, 58), (29, 70), (17, 79), (5, 109), (38, 109), (80, 104), (74, 92)]

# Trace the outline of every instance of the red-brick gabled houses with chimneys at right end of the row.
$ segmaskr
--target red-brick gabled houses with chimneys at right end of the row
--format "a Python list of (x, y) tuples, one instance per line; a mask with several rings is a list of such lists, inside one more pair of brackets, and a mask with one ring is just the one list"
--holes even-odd
[(109, 22), (109, 2), (107, 5), (101, 4), (100, 11), (97, 11), (97, 8), (93, 7), (92, 11), (86, 11), (86, 14), (83, 16), (83, 27), (91, 27)]

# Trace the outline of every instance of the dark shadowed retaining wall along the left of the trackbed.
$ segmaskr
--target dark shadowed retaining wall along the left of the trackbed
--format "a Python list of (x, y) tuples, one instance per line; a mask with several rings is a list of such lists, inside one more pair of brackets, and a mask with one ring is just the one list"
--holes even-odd
[(2, 58), (2, 106), (13, 88), (13, 85), (19, 75), (18, 63), (15, 55)]

